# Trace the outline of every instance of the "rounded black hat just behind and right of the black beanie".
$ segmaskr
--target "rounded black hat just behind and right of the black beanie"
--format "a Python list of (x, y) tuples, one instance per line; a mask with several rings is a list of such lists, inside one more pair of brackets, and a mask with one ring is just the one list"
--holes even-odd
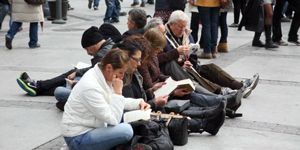
[(99, 32), (105, 39), (111, 38), (115, 43), (121, 41), (122, 35), (120, 31), (109, 23), (104, 23), (99, 27)]

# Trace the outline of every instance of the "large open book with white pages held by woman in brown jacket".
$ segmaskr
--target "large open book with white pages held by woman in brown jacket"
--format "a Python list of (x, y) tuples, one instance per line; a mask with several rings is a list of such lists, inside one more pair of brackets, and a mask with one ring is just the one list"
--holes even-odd
[(191, 79), (184, 79), (184, 80), (180, 80), (180, 81), (175, 81), (171, 77), (169, 77), (165, 82), (166, 82), (165, 85), (163, 85), (161, 88), (154, 91), (154, 95), (156, 97), (169, 95), (176, 88), (186, 88), (187, 91), (194, 91), (195, 90), (195, 85), (193, 84)]

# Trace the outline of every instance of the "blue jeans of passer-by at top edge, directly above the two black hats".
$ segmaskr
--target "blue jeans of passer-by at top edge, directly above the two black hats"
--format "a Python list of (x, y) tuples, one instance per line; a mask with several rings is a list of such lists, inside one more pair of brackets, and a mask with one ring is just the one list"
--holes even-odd
[(106, 4), (106, 12), (104, 21), (115, 20), (119, 21), (119, 10), (117, 8), (117, 1), (118, 0), (105, 0)]

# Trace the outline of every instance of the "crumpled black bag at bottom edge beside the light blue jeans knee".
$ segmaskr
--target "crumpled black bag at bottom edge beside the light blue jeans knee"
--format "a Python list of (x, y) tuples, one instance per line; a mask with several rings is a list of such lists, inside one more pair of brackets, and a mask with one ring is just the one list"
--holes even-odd
[(130, 123), (134, 136), (131, 145), (137, 143), (147, 144), (153, 150), (173, 150), (174, 145), (170, 139), (168, 128), (163, 122), (135, 121)]

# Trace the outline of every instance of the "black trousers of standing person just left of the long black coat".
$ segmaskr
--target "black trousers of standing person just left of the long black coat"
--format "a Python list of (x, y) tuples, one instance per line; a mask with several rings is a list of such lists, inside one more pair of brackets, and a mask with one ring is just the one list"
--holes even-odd
[(246, 0), (232, 0), (233, 2), (233, 12), (234, 12), (234, 23), (238, 24), (240, 21), (240, 13), (244, 15), (244, 10), (246, 8)]

